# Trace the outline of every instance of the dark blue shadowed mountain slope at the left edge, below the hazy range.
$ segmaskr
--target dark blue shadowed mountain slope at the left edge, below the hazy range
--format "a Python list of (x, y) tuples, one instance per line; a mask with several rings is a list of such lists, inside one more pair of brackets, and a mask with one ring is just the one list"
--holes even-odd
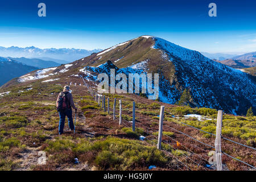
[(38, 69), (12, 59), (0, 57), (0, 86), (5, 82)]

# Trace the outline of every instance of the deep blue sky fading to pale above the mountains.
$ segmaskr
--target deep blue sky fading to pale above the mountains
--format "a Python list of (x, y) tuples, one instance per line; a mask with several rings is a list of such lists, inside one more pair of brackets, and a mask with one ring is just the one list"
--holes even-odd
[[(46, 3), (47, 16), (38, 16)], [(217, 5), (217, 17), (208, 5)], [(154, 35), (201, 52), (256, 51), (256, 1), (49, 1), (0, 4), (0, 46), (108, 48)]]

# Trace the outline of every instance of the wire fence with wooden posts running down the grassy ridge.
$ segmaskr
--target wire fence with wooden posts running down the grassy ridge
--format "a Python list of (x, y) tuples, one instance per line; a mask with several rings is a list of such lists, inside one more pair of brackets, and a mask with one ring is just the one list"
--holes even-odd
[[(81, 77), (82, 77), (82, 76), (81, 76)], [(105, 99), (103, 99), (103, 98), (105, 98), (105, 96), (102, 96), (102, 94), (98, 94), (98, 93), (96, 92), (96, 90), (94, 90), (93, 88), (91, 88), (91, 87), (85, 82), (84, 78), (83, 78), (82, 80), (84, 81), (84, 85), (86, 86), (86, 88), (88, 88), (88, 93), (94, 98), (94, 100), (95, 100), (96, 102), (98, 102), (98, 105), (101, 106), (102, 109), (104, 109), (104, 111), (106, 111), (106, 109), (105, 109)], [(116, 98), (114, 98), (114, 100), (116, 100)], [(102, 101), (102, 103), (100, 103), (101, 101)], [(216, 150), (217, 146), (218, 146), (218, 145), (221, 146), (221, 140), (219, 139), (218, 143), (216, 143), (216, 140), (217, 140), (216, 134), (218, 133), (218, 132), (217, 132), (217, 129), (219, 130), (219, 132), (220, 132), (220, 134), (221, 134), (221, 127), (220, 127), (220, 128), (216, 127), (216, 134), (213, 134), (213, 133), (209, 133), (208, 131), (204, 131), (204, 130), (198, 129), (198, 128), (195, 127), (195, 126), (188, 125), (187, 123), (184, 123), (184, 122), (181, 122), (181, 121), (175, 121), (175, 122), (177, 122), (177, 123), (180, 123), (181, 125), (185, 125), (185, 126), (191, 127), (191, 128), (193, 128), (193, 129), (195, 129), (195, 130), (198, 130), (198, 131), (201, 131), (201, 132), (203, 132), (203, 133), (207, 133), (207, 134), (209, 134), (209, 135), (212, 135), (212, 136), (216, 137), (214, 146), (212, 146), (211, 144), (201, 142), (199, 139), (196, 139), (196, 138), (192, 137), (191, 135), (186, 134), (186, 133), (184, 133), (184, 132), (182, 132), (182, 131), (180, 131), (180, 130), (177, 130), (177, 129), (175, 129), (174, 127), (168, 125), (168, 123), (170, 123), (170, 122), (166, 123), (165, 121), (163, 121), (163, 120), (164, 120), (164, 117), (159, 117), (159, 125), (160, 125), (160, 123), (163, 123), (163, 124), (162, 124), (162, 126), (163, 126), (163, 127), (162, 127), (162, 131), (156, 130), (156, 129), (154, 129), (153, 127), (147, 127), (146, 125), (143, 125), (141, 122), (135, 122), (135, 120), (137, 120), (137, 119), (135, 119), (135, 115), (136, 115), (136, 112), (137, 112), (137, 111), (135, 111), (135, 109), (134, 109), (134, 110), (131, 112), (130, 109), (122, 109), (122, 104), (121, 104), (122, 102), (121, 102), (121, 99), (120, 99), (119, 103), (120, 103), (119, 107), (121, 107), (121, 111), (120, 111), (120, 109), (119, 109), (119, 118), (118, 118), (118, 120), (119, 120), (119, 125), (123, 125), (123, 126), (126, 126), (126, 127), (132, 127), (132, 128), (133, 128), (133, 131), (134, 131), (135, 133), (137, 133), (137, 134), (140, 134), (140, 133), (138, 133), (138, 130), (141, 130), (144, 134), (147, 135), (146, 139), (143, 140), (143, 142), (145, 142), (145, 143), (147, 143), (147, 144), (149, 144), (149, 145), (151, 145), (151, 146), (159, 145), (159, 142), (165, 144), (166, 146), (168, 146), (168, 148), (166, 148), (166, 146), (165, 146), (165, 147), (159, 148), (159, 150), (163, 151), (165, 154), (170, 155), (173, 159), (175, 159), (176, 162), (180, 164), (180, 166), (177, 165), (177, 164), (175, 164), (175, 167), (176, 167), (176, 168), (179, 168), (180, 170), (184, 170), (184, 168), (187, 169), (187, 170), (192, 170), (192, 167), (191, 167), (192, 164), (194, 164), (194, 165), (197, 166), (197, 167), (200, 167), (200, 169), (205, 169), (205, 170), (210, 170), (210, 169), (222, 170), (221, 155), (226, 155), (226, 156), (228, 156), (229, 158), (232, 158), (232, 159), (237, 160), (238, 162), (240, 162), (240, 163), (242, 163), (242, 164), (245, 164), (247, 167), (249, 167), (249, 168), (248, 168), (249, 170), (256, 170), (256, 168), (255, 168), (253, 165), (251, 165), (251, 164), (249, 164), (249, 163), (246, 163), (246, 162), (244, 162), (243, 160), (237, 159), (237, 158), (235, 158), (234, 156), (229, 155), (229, 154), (227, 154), (227, 153), (224, 152), (224, 151), (220, 151), (220, 152), (221, 152), (221, 154), (219, 155), (219, 156), (220, 156), (220, 159), (219, 159), (219, 161), (217, 161), (217, 163), (218, 163), (219, 165), (216, 164), (216, 163), (213, 163), (212, 165), (210, 165), (211, 167), (206, 167), (205, 164), (208, 164), (208, 163), (209, 163), (209, 157), (210, 157), (209, 155), (205, 155), (205, 154), (203, 154), (203, 155), (202, 155), (202, 154), (196, 154), (196, 152), (193, 152), (191, 149), (189, 149), (189, 147), (185, 146), (185, 144), (181, 144), (178, 140), (175, 140), (174, 138), (172, 138), (172, 137), (168, 136), (167, 134), (163, 133), (163, 129), (164, 129), (164, 128), (165, 128), (165, 129), (168, 129), (168, 130), (173, 130), (175, 133), (179, 133), (179, 134), (181, 134), (181, 135), (184, 135), (185, 137), (188, 137), (188, 138), (194, 140), (196, 143), (200, 143), (201, 145), (204, 145), (204, 146), (208, 147), (209, 149), (212, 149), (213, 151), (214, 151), (214, 150), (217, 151), (217, 150)], [(101, 104), (102, 104), (102, 105), (101, 105)], [(162, 106), (162, 107), (164, 107), (164, 106)], [(108, 98), (108, 114), (109, 114), (109, 111), (110, 111), (110, 108), (109, 108), (109, 98)], [(115, 109), (115, 105), (114, 105), (114, 107), (113, 107), (113, 119), (114, 119), (114, 120), (117, 119), (117, 118), (115, 117), (115, 111), (117, 111), (117, 109)], [(127, 120), (125, 120), (124, 118), (122, 118), (122, 111), (123, 111), (123, 113), (126, 112), (126, 114), (131, 114), (132, 117), (133, 117), (133, 121), (127, 121)], [(221, 125), (221, 124), (222, 124), (222, 111), (219, 110), (218, 112), (221, 113), (221, 118), (220, 118), (219, 115), (218, 115), (217, 120), (218, 120), (218, 119), (220, 120), (220, 125)], [(161, 113), (160, 113), (160, 114), (161, 114)], [(160, 114), (159, 114), (159, 116), (160, 116)], [(171, 114), (171, 113), (168, 113), (168, 114)], [(157, 115), (157, 114), (152, 114), (152, 115)], [(136, 118), (145, 119), (145, 118), (138, 117), (138, 116), (137, 116)], [(161, 120), (162, 120), (162, 121), (161, 121)], [(136, 127), (136, 128), (135, 128), (135, 124), (136, 124), (136, 125), (137, 125), (137, 124), (138, 124), (138, 125), (141, 125), (143, 129), (141, 129), (141, 128), (139, 128), (139, 127)], [(130, 125), (131, 125), (131, 126), (130, 126)], [(159, 128), (160, 128), (160, 127), (159, 127)], [(137, 129), (137, 130), (136, 130), (136, 129)], [(146, 130), (146, 131), (145, 131), (145, 130)], [(161, 137), (160, 137), (160, 138), (161, 138), (160, 141), (158, 140), (158, 142), (156, 142), (155, 139), (157, 139), (157, 138), (159, 139), (159, 137), (156, 137), (155, 135), (153, 135), (152, 133), (154, 133), (154, 132), (158, 132), (159, 137), (161, 136)], [(165, 137), (164, 140), (162, 140), (162, 136)], [(151, 139), (151, 138), (154, 138), (154, 140)], [(168, 138), (168, 139), (167, 139), (167, 138)], [(256, 148), (254, 148), (254, 147), (250, 147), (250, 146), (247, 146), (247, 145), (245, 145), (245, 144), (236, 142), (236, 141), (234, 141), (234, 140), (231, 140), (231, 139), (222, 137), (221, 135), (220, 135), (220, 138), (221, 138), (221, 139), (224, 139), (224, 140), (227, 140), (227, 141), (229, 141), (229, 142), (238, 144), (238, 145), (240, 145), (240, 146), (242, 146), (242, 147), (246, 147), (246, 148), (248, 148), (249, 150), (253, 150), (253, 151), (256, 150)], [(169, 142), (167, 142), (166, 140), (168, 140)], [(181, 147), (183, 148), (183, 150), (184, 150), (185, 152), (187, 152), (187, 154), (181, 155), (181, 156), (179, 156), (179, 157), (175, 156), (175, 154), (174, 154), (175, 152), (173, 152), (173, 151), (179, 150), (179, 147), (175, 148), (174, 146), (171, 146), (171, 144), (170, 144), (170, 143), (171, 143), (171, 142), (170, 142), (171, 140), (172, 140), (173, 142), (176, 142), (177, 145), (178, 145), (178, 143), (179, 143), (179, 146), (181, 146)], [(199, 146), (197, 146), (197, 144), (193, 144), (193, 147), (200, 148)], [(214, 151), (214, 152), (215, 152), (215, 151)], [(198, 159), (200, 159), (200, 161), (199, 161), (199, 162), (196, 162), (195, 160), (192, 159), (192, 156), (196, 156)], [(213, 161), (216, 162), (216, 160), (218, 160), (218, 159), (217, 159), (216, 154), (214, 154), (214, 155), (213, 155)], [(185, 162), (184, 162), (184, 161), (185, 161)], [(188, 161), (189, 161), (189, 163), (188, 163)], [(190, 167), (188, 167), (188, 164), (191, 164)], [(221, 167), (220, 167), (220, 165), (221, 165)], [(183, 167), (181, 167), (181, 166), (183, 166)], [(212, 167), (213, 167), (213, 168), (212, 168)], [(195, 167), (193, 167), (193, 168), (195, 169)]]

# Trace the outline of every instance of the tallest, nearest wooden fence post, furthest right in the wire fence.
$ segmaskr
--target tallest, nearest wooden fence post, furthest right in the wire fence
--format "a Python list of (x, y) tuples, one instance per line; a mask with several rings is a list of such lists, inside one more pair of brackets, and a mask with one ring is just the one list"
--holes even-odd
[(216, 138), (215, 138), (215, 152), (216, 152), (216, 162), (217, 171), (222, 171), (222, 161), (221, 161), (221, 124), (222, 124), (222, 110), (218, 110), (217, 125), (216, 125)]

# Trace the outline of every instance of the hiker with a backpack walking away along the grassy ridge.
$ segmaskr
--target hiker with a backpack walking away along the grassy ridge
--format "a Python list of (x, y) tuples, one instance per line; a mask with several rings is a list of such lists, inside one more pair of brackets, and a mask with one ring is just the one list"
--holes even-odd
[(59, 134), (63, 134), (63, 129), (65, 125), (66, 115), (68, 117), (68, 126), (71, 130), (74, 130), (74, 123), (72, 118), (72, 108), (77, 112), (77, 107), (74, 104), (72, 94), (69, 93), (69, 86), (64, 86), (63, 92), (60, 92), (57, 101), (57, 111), (59, 111), (60, 122), (59, 122)]

